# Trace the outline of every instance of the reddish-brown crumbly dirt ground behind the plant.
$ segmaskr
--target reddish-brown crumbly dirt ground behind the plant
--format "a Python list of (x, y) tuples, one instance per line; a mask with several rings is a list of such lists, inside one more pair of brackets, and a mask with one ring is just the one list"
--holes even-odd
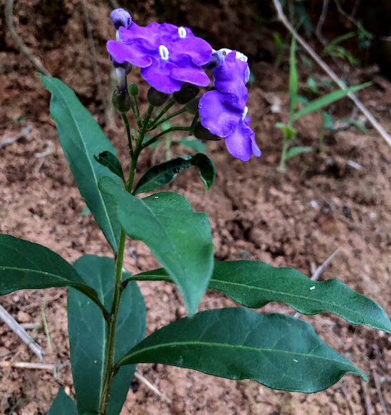
[[(107, 4), (106, 4), (107, 3)], [(58, 28), (39, 7), (62, 4)], [(40, 6), (41, 5), (41, 6)], [(196, 4), (197, 5), (197, 4)], [(64, 12), (65, 10), (65, 12)], [(91, 54), (85, 33), (83, 9), (78, 0), (63, 3), (24, 0), (15, 6), (14, 23), (20, 36), (52, 75), (61, 78), (93, 112), (105, 122), (103, 96), (108, 95), (110, 64), (105, 40), (113, 37), (108, 21), (108, 2), (88, 6), (103, 95), (96, 88)], [(225, 13), (226, 11), (221, 11)], [(54, 11), (53, 13), (56, 13)], [(138, 22), (152, 19), (150, 4), (137, 4), (133, 16)], [(213, 14), (211, 14), (213, 16)], [(232, 18), (233, 21), (235, 16)], [(137, 21), (137, 19), (135, 19)], [(3, 22), (4, 23), (4, 22)], [(224, 26), (222, 26), (224, 28)], [(234, 26), (237, 28), (236, 26)], [(212, 33), (216, 33), (216, 25)], [(34, 69), (16, 51), (11, 38), (0, 26), (0, 140), (18, 134), (31, 125), (26, 137), (0, 148), (0, 231), (42, 243), (75, 261), (83, 253), (110, 255), (105, 239), (90, 215), (80, 216), (85, 207), (66, 164), (56, 129), (48, 115), (49, 95), (34, 75)], [(224, 30), (221, 29), (220, 30)], [(230, 31), (234, 33), (234, 29)], [(263, 36), (259, 32), (249, 43)], [(220, 39), (221, 41), (221, 39)], [(269, 39), (270, 41), (270, 39)], [(245, 44), (239, 45), (246, 53)], [(236, 46), (237, 47), (237, 46)], [(266, 48), (267, 49), (267, 48)], [(328, 132), (323, 152), (311, 152), (288, 162), (286, 174), (278, 173), (281, 134), (274, 127), (286, 121), (287, 65), (275, 68), (273, 61), (259, 54), (251, 65), (254, 83), (250, 87), (251, 127), (262, 151), (261, 159), (243, 163), (233, 159), (224, 142), (207, 143), (207, 154), (217, 167), (217, 180), (205, 196), (197, 172), (179, 174), (170, 189), (187, 197), (194, 210), (205, 211), (212, 224), (216, 258), (254, 259), (273, 266), (291, 266), (311, 275), (313, 269), (340, 248), (320, 280), (338, 278), (379, 303), (390, 315), (391, 271), (391, 150), (366, 125), (369, 134), (350, 128)], [(308, 69), (301, 68), (301, 91), (306, 93)], [(306, 72), (307, 70), (307, 72)], [(323, 74), (313, 68), (313, 78)], [(129, 80), (139, 80), (137, 71)], [(368, 79), (363, 70), (352, 70), (353, 83)], [(359, 95), (387, 132), (391, 132), (391, 84), (380, 75), (371, 75), (373, 85)], [(308, 92), (307, 92), (308, 93)], [(141, 90), (145, 100), (145, 88)], [(280, 101), (280, 108), (272, 103)], [(145, 109), (145, 102), (142, 102)], [(349, 117), (348, 100), (333, 107), (335, 115)], [(126, 140), (119, 117), (104, 130), (118, 148), (125, 163)], [(308, 115), (296, 127), (303, 145), (316, 148), (321, 119)], [(177, 136), (180, 138), (180, 136)], [(153, 162), (165, 159), (163, 147), (142, 157), (140, 172)], [(172, 154), (187, 152), (172, 146)], [(40, 154), (43, 157), (40, 157)], [(359, 169), (355, 164), (359, 165)], [(142, 243), (127, 242), (125, 266), (132, 273), (158, 264)], [(140, 283), (147, 305), (147, 334), (184, 315), (179, 293), (166, 283)], [(6, 362), (38, 362), (9, 327), (0, 323), (0, 412), (17, 415), (46, 414), (58, 387), (73, 396), (69, 345), (66, 335), (66, 289), (24, 290), (0, 299), (1, 305), (26, 327), (38, 323), (33, 332), (45, 352), (44, 361), (59, 365), (53, 371), (12, 369)], [(208, 292), (200, 309), (232, 305), (231, 300)], [(51, 347), (42, 324), (44, 310)], [(276, 303), (261, 312), (293, 310)], [(167, 399), (157, 396), (135, 380), (121, 414), (376, 414), (391, 408), (391, 337), (367, 327), (350, 325), (335, 315), (302, 317), (311, 322), (320, 337), (363, 369), (370, 382), (344, 377), (318, 394), (278, 392), (252, 381), (234, 382), (192, 370), (141, 364), (137, 371)]]

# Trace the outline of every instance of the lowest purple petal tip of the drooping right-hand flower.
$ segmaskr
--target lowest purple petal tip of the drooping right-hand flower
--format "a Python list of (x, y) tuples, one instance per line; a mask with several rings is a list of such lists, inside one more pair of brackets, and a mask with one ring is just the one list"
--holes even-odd
[[(252, 154), (254, 154), (256, 157), (259, 157), (261, 152), (255, 144), (254, 137), (254, 131), (245, 125), (244, 122), (239, 122), (234, 131), (225, 137), (224, 141), (226, 149), (228, 150), (229, 154), (234, 156), (236, 159), (241, 160), (242, 162), (247, 162), (251, 158)], [(253, 149), (256, 151), (254, 152)]]

